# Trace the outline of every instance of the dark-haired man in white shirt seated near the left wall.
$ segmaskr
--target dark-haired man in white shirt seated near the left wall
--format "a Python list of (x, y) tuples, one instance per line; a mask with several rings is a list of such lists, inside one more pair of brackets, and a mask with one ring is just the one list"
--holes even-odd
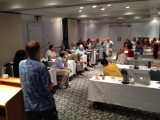
[(50, 60), (50, 59), (56, 59), (56, 57), (57, 57), (57, 54), (54, 51), (54, 46), (50, 45), (49, 50), (47, 50), (47, 52), (45, 54), (45, 58), (47, 60)]

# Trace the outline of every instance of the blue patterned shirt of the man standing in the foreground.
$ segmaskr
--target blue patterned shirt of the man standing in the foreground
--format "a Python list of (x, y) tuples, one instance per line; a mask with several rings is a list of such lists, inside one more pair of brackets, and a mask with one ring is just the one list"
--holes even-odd
[(25, 111), (44, 111), (55, 107), (53, 94), (47, 91), (52, 84), (45, 65), (30, 58), (19, 64)]

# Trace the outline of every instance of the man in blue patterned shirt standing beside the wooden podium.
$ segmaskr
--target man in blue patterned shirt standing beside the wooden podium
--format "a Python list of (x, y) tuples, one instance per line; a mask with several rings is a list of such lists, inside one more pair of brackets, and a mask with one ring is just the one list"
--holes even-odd
[(26, 53), (28, 58), (20, 62), (19, 74), (28, 120), (58, 120), (53, 83), (46, 66), (40, 62), (40, 44), (29, 41)]

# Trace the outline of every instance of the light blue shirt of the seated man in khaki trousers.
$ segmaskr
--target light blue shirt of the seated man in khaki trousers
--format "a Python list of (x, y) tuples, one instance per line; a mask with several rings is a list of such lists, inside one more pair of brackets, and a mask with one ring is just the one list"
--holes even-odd
[(58, 57), (52, 67), (62, 69), (64, 68), (64, 64), (65, 64), (65, 61), (63, 60), (63, 58)]

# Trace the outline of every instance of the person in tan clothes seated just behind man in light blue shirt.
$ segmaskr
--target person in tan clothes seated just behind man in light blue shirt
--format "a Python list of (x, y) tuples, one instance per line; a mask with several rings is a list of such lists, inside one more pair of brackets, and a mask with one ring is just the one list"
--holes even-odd
[(72, 53), (69, 56), (69, 60), (74, 60), (76, 62), (76, 71), (77, 71), (77, 74), (80, 74), (80, 75), (84, 71), (83, 63), (86, 63), (81, 59), (82, 55), (83, 55), (83, 53), (79, 52), (79, 53)]

